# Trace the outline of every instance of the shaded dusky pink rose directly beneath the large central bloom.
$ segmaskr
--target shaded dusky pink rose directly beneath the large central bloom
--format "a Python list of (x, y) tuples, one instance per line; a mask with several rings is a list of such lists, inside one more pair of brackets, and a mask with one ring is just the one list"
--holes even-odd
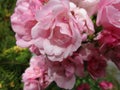
[(60, 88), (72, 89), (75, 85), (75, 75), (84, 75), (83, 62), (77, 56), (64, 59), (62, 62), (48, 60), (49, 75)]

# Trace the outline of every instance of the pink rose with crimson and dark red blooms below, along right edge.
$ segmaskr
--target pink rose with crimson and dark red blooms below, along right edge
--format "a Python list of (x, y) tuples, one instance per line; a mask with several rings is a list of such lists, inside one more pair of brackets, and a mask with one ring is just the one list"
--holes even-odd
[(120, 69), (120, 0), (101, 0), (98, 9), (97, 25), (103, 27), (97, 36), (100, 51)]

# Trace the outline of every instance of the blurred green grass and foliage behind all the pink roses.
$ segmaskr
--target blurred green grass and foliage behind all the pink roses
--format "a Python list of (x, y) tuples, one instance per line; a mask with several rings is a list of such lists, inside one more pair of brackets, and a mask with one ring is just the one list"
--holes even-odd
[[(0, 0), (0, 90), (23, 90), (21, 75), (29, 66), (29, 59), (32, 56), (28, 49), (17, 47), (15, 44), (15, 33), (10, 24), (15, 3), (16, 0)], [(112, 76), (108, 74), (104, 79), (114, 83), (114, 90), (120, 90), (118, 81)], [(81, 83), (89, 83), (91, 90), (99, 90), (98, 81), (93, 81), (89, 76), (77, 78), (75, 86)], [(52, 83), (46, 90), (63, 89)]]

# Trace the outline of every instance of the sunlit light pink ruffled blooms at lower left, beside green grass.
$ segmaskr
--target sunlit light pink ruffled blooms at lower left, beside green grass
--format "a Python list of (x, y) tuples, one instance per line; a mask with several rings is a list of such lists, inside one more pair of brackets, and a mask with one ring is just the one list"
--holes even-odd
[(30, 67), (22, 75), (24, 90), (41, 90), (46, 88), (52, 80), (48, 76), (48, 67), (44, 56), (33, 56)]

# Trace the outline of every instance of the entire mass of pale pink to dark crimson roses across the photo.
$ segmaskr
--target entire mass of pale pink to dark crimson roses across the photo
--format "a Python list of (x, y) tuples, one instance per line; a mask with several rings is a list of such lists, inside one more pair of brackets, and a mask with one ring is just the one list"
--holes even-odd
[[(98, 33), (91, 17), (102, 27)], [(34, 54), (24, 90), (44, 90), (53, 81), (72, 89), (85, 70), (97, 80), (107, 60), (120, 69), (120, 0), (17, 0), (11, 24), (16, 44)]]

